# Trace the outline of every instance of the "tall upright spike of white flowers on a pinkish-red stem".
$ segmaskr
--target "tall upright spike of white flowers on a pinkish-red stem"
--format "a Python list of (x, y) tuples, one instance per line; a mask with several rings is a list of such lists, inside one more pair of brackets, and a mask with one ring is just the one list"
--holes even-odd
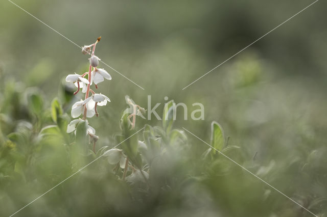
[[(100, 41), (101, 37), (97, 39), (97, 41), (94, 44), (91, 45), (85, 45), (82, 47), (82, 53), (84, 55), (88, 54), (91, 55), (89, 58), (89, 69), (88, 72), (85, 72), (84, 74), (69, 74), (66, 77), (66, 82), (74, 83), (74, 85), (77, 87), (77, 91), (74, 92), (74, 95), (76, 95), (81, 89), (82, 93), (85, 93), (84, 100), (81, 99), (80, 101), (77, 101), (72, 106), (72, 112), (71, 115), (73, 118), (79, 118), (71, 121), (71, 123), (67, 126), (67, 133), (69, 132), (75, 132), (77, 125), (80, 123), (86, 122), (86, 131), (89, 135), (90, 142), (93, 143), (93, 151), (95, 152), (95, 145), (99, 137), (96, 135), (96, 130), (88, 125), (88, 121), (86, 118), (91, 118), (94, 115), (97, 117), (99, 116), (97, 106), (103, 106), (107, 104), (107, 101), (110, 102), (110, 99), (103, 95), (95, 93), (90, 87), (94, 83), (96, 89), (98, 89), (98, 84), (103, 82), (104, 79), (111, 80), (110, 74), (104, 70), (97, 68), (99, 65), (99, 58), (95, 56), (95, 49), (97, 43)], [(92, 51), (91, 51), (92, 49)], [(87, 78), (85, 78), (87, 77)], [(92, 94), (91, 96), (90, 93)], [(80, 118), (82, 116), (82, 118)]]

